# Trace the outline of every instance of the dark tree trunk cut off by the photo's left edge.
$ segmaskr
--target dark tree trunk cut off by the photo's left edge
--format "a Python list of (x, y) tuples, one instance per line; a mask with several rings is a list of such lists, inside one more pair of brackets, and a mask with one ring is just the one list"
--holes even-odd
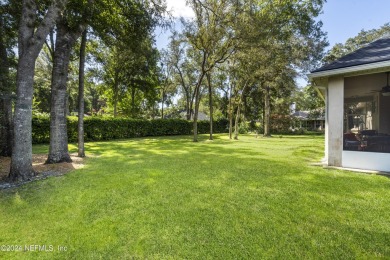
[(12, 100), (3, 17), (0, 17), (0, 156), (12, 154)]

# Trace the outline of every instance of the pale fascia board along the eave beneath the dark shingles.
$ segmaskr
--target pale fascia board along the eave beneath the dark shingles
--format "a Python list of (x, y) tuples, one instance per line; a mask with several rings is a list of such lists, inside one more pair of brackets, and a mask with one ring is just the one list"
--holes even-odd
[(336, 76), (336, 75), (341, 75), (341, 74), (363, 72), (363, 71), (367, 71), (367, 70), (380, 69), (383, 67), (390, 67), (390, 60), (381, 61), (381, 62), (374, 62), (374, 63), (369, 63), (369, 64), (363, 64), (363, 65), (357, 65), (357, 66), (351, 66), (351, 67), (345, 67), (345, 68), (340, 68), (340, 69), (313, 72), (313, 73), (308, 74), (307, 77), (309, 78), (309, 80), (312, 80), (314, 78), (330, 77), (330, 76)]

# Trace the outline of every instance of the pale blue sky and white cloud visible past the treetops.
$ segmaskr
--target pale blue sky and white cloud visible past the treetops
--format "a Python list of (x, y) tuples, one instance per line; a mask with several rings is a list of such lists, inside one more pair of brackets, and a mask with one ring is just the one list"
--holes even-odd
[[(192, 10), (186, 7), (185, 2), (167, 0), (168, 9), (174, 17), (193, 16)], [(336, 43), (345, 43), (362, 29), (377, 29), (390, 22), (390, 0), (327, 0), (318, 19), (323, 22), (322, 29), (327, 32), (330, 49)], [(169, 34), (169, 31), (156, 31), (156, 44), (159, 49), (166, 47)], [(305, 85), (306, 82), (299, 79), (298, 84)]]

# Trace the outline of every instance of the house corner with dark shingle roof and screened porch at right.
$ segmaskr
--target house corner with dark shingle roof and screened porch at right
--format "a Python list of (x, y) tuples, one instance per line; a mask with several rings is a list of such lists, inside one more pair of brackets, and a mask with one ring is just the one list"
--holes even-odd
[(326, 99), (326, 165), (390, 172), (389, 72), (384, 37), (308, 75)]

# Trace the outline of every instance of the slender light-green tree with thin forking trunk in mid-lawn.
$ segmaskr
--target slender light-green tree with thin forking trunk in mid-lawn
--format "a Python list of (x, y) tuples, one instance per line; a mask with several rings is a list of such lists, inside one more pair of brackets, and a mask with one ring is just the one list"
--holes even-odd
[[(190, 6), (195, 18), (185, 23), (188, 42), (197, 52), (199, 75), (194, 88), (194, 142), (198, 141), (198, 111), (201, 97), (201, 85), (204, 77), (218, 63), (223, 63), (234, 52), (235, 38), (229, 22), (236, 15), (235, 6), (228, 0), (192, 0)], [(212, 138), (212, 137), (211, 137)]]

